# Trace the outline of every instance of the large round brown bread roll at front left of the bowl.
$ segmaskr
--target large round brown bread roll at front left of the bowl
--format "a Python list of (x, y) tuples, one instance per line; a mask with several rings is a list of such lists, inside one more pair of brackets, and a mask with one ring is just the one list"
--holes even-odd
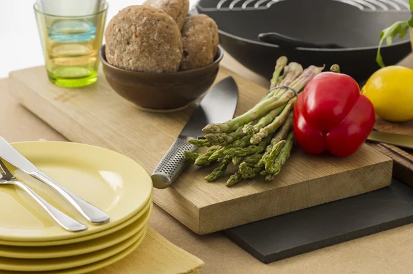
[(122, 69), (176, 72), (182, 38), (176, 22), (156, 8), (131, 5), (120, 10), (105, 30), (106, 59)]

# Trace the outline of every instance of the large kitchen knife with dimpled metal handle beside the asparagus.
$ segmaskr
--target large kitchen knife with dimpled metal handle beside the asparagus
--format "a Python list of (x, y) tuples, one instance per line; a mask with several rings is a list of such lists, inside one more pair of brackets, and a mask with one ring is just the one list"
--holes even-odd
[(225, 78), (204, 96), (189, 118), (180, 135), (160, 160), (151, 174), (153, 187), (167, 188), (184, 170), (187, 160), (183, 150), (195, 152), (198, 147), (187, 142), (188, 139), (204, 135), (202, 128), (207, 124), (221, 123), (233, 117), (238, 102), (238, 88), (232, 77)]

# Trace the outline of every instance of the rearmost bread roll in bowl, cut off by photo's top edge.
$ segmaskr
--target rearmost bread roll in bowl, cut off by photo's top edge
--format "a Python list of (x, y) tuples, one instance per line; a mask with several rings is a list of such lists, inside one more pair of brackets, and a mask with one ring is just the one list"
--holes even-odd
[(182, 29), (189, 10), (189, 0), (147, 0), (144, 5), (150, 5), (169, 14)]

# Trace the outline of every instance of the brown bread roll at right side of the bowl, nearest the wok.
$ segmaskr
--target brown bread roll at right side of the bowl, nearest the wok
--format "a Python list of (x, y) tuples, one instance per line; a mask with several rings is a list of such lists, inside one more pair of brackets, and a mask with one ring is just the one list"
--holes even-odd
[(209, 16), (189, 16), (182, 28), (180, 70), (198, 69), (213, 62), (218, 51), (218, 26)]

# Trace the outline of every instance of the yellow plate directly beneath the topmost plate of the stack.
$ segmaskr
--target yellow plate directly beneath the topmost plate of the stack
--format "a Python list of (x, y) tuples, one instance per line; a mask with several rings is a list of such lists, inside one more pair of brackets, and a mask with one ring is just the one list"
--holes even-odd
[(13, 241), (0, 241), (0, 244), (3, 245), (8, 245), (8, 246), (14, 246), (14, 247), (52, 247), (52, 246), (57, 246), (57, 245), (63, 245), (63, 244), (74, 244), (76, 242), (85, 242), (87, 240), (92, 240), (96, 239), (99, 237), (103, 237), (109, 234), (113, 234), (116, 231), (123, 229), (127, 227), (128, 225), (131, 225), (133, 222), (138, 220), (147, 210), (149, 207), (152, 206), (152, 197), (149, 200), (149, 203), (145, 205), (145, 207), (138, 212), (135, 216), (132, 216), (131, 218), (127, 219), (125, 222), (122, 222), (120, 225), (116, 225), (116, 227), (111, 227), (107, 230), (100, 231), (98, 233), (94, 233), (91, 235), (83, 236), (83, 237), (77, 237), (77, 238), (72, 238), (72, 239), (67, 239), (67, 240), (56, 240), (56, 241), (46, 241), (46, 242), (13, 242)]

